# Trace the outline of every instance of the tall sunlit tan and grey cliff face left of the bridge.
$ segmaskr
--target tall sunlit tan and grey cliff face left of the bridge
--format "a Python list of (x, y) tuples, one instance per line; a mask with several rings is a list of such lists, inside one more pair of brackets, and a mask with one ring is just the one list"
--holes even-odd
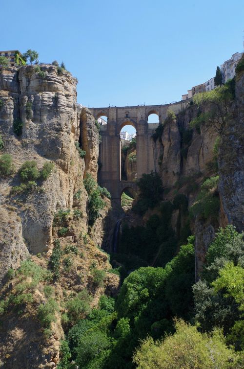
[[(72, 208), (78, 190), (83, 210), (79, 226), (87, 231), (83, 174), (86, 170), (97, 175), (99, 141), (89, 110), (77, 109), (76, 80), (67, 71), (59, 75), (55, 66), (43, 66), (41, 73), (35, 66), (2, 70), (0, 100), (4, 142), (0, 154), (11, 154), (15, 167), (12, 177), (0, 181), (1, 278), (10, 267), (19, 266), (28, 252), (37, 254), (51, 247), (54, 213)], [(19, 137), (14, 133), (16, 121), (23, 123)], [(85, 161), (74, 144), (79, 139), (86, 150)], [(11, 187), (20, 185), (18, 170), (27, 160), (36, 161), (39, 170), (51, 161), (55, 169), (46, 181), (38, 181), (38, 191), (10, 195)]]

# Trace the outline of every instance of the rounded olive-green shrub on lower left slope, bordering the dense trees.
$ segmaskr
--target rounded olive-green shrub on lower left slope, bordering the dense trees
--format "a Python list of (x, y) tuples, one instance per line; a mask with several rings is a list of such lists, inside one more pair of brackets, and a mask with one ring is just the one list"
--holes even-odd
[(92, 297), (86, 289), (79, 292), (74, 299), (69, 300), (66, 305), (69, 319), (76, 323), (79, 319), (89, 314), (91, 301)]

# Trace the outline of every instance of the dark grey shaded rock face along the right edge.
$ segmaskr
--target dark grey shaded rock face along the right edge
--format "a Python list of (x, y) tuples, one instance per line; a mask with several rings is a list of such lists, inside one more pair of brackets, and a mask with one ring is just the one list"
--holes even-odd
[[(244, 230), (244, 73), (236, 77), (235, 117), (228, 121), (219, 153), (219, 190), (225, 222)], [(227, 219), (226, 219), (227, 218)]]

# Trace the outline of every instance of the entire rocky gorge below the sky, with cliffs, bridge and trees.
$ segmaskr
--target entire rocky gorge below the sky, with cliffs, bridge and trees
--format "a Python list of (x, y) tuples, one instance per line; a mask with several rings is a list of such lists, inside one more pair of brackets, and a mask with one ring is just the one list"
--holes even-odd
[(88, 109), (76, 85), (0, 70), (0, 367), (181, 368), (160, 352), (185, 334), (205, 359), (183, 368), (243, 368), (244, 69), (166, 105)]

